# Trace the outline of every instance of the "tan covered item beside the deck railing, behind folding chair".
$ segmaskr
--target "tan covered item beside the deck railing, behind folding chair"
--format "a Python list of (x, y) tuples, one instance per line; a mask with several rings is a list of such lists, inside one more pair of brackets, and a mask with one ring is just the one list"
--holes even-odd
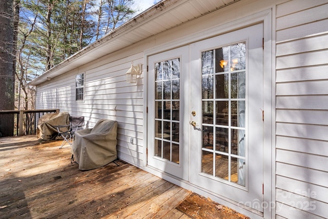
[(67, 112), (48, 113), (37, 121), (36, 137), (42, 140), (52, 140), (58, 136), (57, 125), (70, 124)]

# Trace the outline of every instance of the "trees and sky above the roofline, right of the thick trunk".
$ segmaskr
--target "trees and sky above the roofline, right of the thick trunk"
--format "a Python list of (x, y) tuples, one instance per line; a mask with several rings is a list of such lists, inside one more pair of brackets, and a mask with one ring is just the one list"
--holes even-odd
[[(133, 0), (20, 0), (16, 84), (31, 101), (28, 82), (87, 47), (135, 13)], [(19, 100), (20, 100), (19, 99)], [(18, 101), (19, 102), (19, 101)], [(16, 104), (17, 105), (17, 104)]]

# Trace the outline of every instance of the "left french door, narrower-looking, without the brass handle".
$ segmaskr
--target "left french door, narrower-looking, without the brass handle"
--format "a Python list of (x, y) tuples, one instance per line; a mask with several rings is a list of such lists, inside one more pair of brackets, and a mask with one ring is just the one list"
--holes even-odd
[(148, 58), (148, 165), (189, 179), (189, 46)]

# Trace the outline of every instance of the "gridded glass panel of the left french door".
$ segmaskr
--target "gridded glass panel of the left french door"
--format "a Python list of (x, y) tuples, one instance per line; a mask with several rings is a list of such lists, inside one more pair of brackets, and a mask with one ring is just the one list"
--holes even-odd
[(180, 162), (180, 58), (155, 63), (154, 157)]

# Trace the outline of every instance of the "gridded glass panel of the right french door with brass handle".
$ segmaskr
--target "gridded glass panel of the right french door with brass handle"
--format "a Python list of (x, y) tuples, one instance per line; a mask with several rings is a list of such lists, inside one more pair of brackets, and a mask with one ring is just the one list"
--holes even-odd
[(245, 186), (245, 42), (201, 53), (201, 171)]

